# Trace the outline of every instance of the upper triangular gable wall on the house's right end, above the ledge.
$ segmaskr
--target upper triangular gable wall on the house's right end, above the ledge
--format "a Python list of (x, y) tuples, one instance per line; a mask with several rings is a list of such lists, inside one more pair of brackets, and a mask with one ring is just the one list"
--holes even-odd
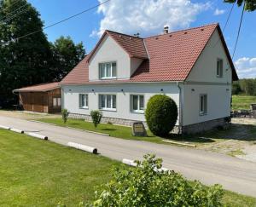
[[(217, 77), (217, 60), (223, 59), (223, 78)], [(212, 34), (201, 56), (196, 61), (193, 70), (189, 73), (187, 81), (231, 83), (232, 75), (228, 58), (225, 54), (223, 44), (219, 39), (218, 31)]]

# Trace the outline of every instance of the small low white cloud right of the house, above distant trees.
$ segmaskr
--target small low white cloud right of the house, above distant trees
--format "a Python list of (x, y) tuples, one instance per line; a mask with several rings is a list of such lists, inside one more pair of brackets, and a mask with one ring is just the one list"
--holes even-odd
[(235, 62), (239, 78), (256, 78), (256, 58), (242, 57)]

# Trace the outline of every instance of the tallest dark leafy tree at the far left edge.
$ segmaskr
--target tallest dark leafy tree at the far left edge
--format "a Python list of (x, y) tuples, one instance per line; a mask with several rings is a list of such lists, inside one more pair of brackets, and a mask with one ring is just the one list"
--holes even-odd
[[(25, 10), (26, 9), (26, 10)], [(26, 0), (0, 1), (0, 91), (51, 80), (50, 45), (40, 14)], [(23, 37), (28, 33), (37, 33)]]

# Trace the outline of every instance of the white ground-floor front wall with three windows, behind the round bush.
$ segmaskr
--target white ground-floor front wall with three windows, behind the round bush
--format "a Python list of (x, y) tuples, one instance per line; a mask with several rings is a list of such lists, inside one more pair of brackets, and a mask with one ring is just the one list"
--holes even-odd
[[(124, 118), (130, 120), (145, 121), (144, 114), (131, 112), (130, 95), (144, 95), (144, 105), (152, 95), (169, 95), (179, 106), (179, 90), (176, 83), (125, 83), (125, 84), (106, 84), (106, 85), (80, 85), (62, 86), (63, 89), (63, 108), (69, 112), (78, 114), (90, 114), (90, 110), (99, 109), (99, 94), (117, 95), (117, 111), (102, 111), (104, 117)], [(94, 93), (92, 92), (94, 89)], [(124, 90), (124, 92), (121, 91)], [(89, 109), (79, 108), (79, 94), (89, 95)], [(178, 121), (177, 121), (178, 124)]]

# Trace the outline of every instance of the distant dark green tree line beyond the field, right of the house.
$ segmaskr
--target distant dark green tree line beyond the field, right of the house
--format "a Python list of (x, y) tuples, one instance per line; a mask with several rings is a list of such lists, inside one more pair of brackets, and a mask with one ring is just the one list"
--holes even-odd
[(244, 78), (232, 85), (233, 95), (256, 95), (256, 78)]

